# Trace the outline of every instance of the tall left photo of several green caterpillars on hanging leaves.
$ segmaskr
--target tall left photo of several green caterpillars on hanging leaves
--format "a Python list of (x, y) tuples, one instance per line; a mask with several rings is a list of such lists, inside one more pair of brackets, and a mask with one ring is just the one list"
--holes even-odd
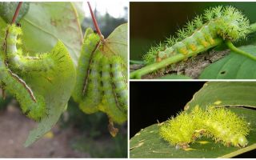
[(0, 2), (0, 158), (128, 157), (128, 7)]

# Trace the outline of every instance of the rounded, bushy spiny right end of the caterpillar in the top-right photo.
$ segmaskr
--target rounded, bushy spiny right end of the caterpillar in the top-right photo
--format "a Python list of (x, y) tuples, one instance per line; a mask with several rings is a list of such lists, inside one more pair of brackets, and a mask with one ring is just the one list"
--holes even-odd
[(235, 42), (246, 38), (248, 34), (249, 20), (233, 6), (218, 6), (206, 10), (205, 18), (208, 21), (209, 18), (215, 19), (217, 34), (223, 39)]

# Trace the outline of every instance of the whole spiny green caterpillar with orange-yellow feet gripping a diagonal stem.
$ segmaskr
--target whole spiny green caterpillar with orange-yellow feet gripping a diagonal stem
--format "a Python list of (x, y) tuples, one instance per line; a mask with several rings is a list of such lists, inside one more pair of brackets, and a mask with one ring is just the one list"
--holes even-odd
[[(233, 6), (218, 6), (205, 11), (202, 16), (197, 16), (187, 22), (186, 28), (178, 30), (177, 37), (170, 37), (166, 44), (153, 47), (144, 57), (150, 64), (160, 62), (175, 54), (189, 54), (198, 52), (202, 47), (205, 50), (216, 46), (214, 38), (229, 39), (232, 42), (246, 38), (249, 20)], [(200, 50), (202, 52), (202, 50)]]

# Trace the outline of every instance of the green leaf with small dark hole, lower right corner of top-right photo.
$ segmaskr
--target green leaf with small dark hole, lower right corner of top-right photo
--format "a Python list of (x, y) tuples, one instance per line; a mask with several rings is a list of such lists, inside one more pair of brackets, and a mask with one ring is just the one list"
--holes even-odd
[[(256, 46), (241, 46), (244, 50), (256, 56)], [(255, 79), (256, 62), (233, 51), (218, 62), (207, 66), (199, 78), (201, 79)]]

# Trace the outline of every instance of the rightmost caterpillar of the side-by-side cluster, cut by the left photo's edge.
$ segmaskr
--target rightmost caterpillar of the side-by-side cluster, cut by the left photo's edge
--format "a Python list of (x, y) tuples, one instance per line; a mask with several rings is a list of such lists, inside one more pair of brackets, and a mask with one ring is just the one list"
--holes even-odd
[(114, 93), (123, 112), (127, 112), (128, 86), (125, 62), (123, 62), (121, 57), (116, 55), (112, 56), (110, 61)]

